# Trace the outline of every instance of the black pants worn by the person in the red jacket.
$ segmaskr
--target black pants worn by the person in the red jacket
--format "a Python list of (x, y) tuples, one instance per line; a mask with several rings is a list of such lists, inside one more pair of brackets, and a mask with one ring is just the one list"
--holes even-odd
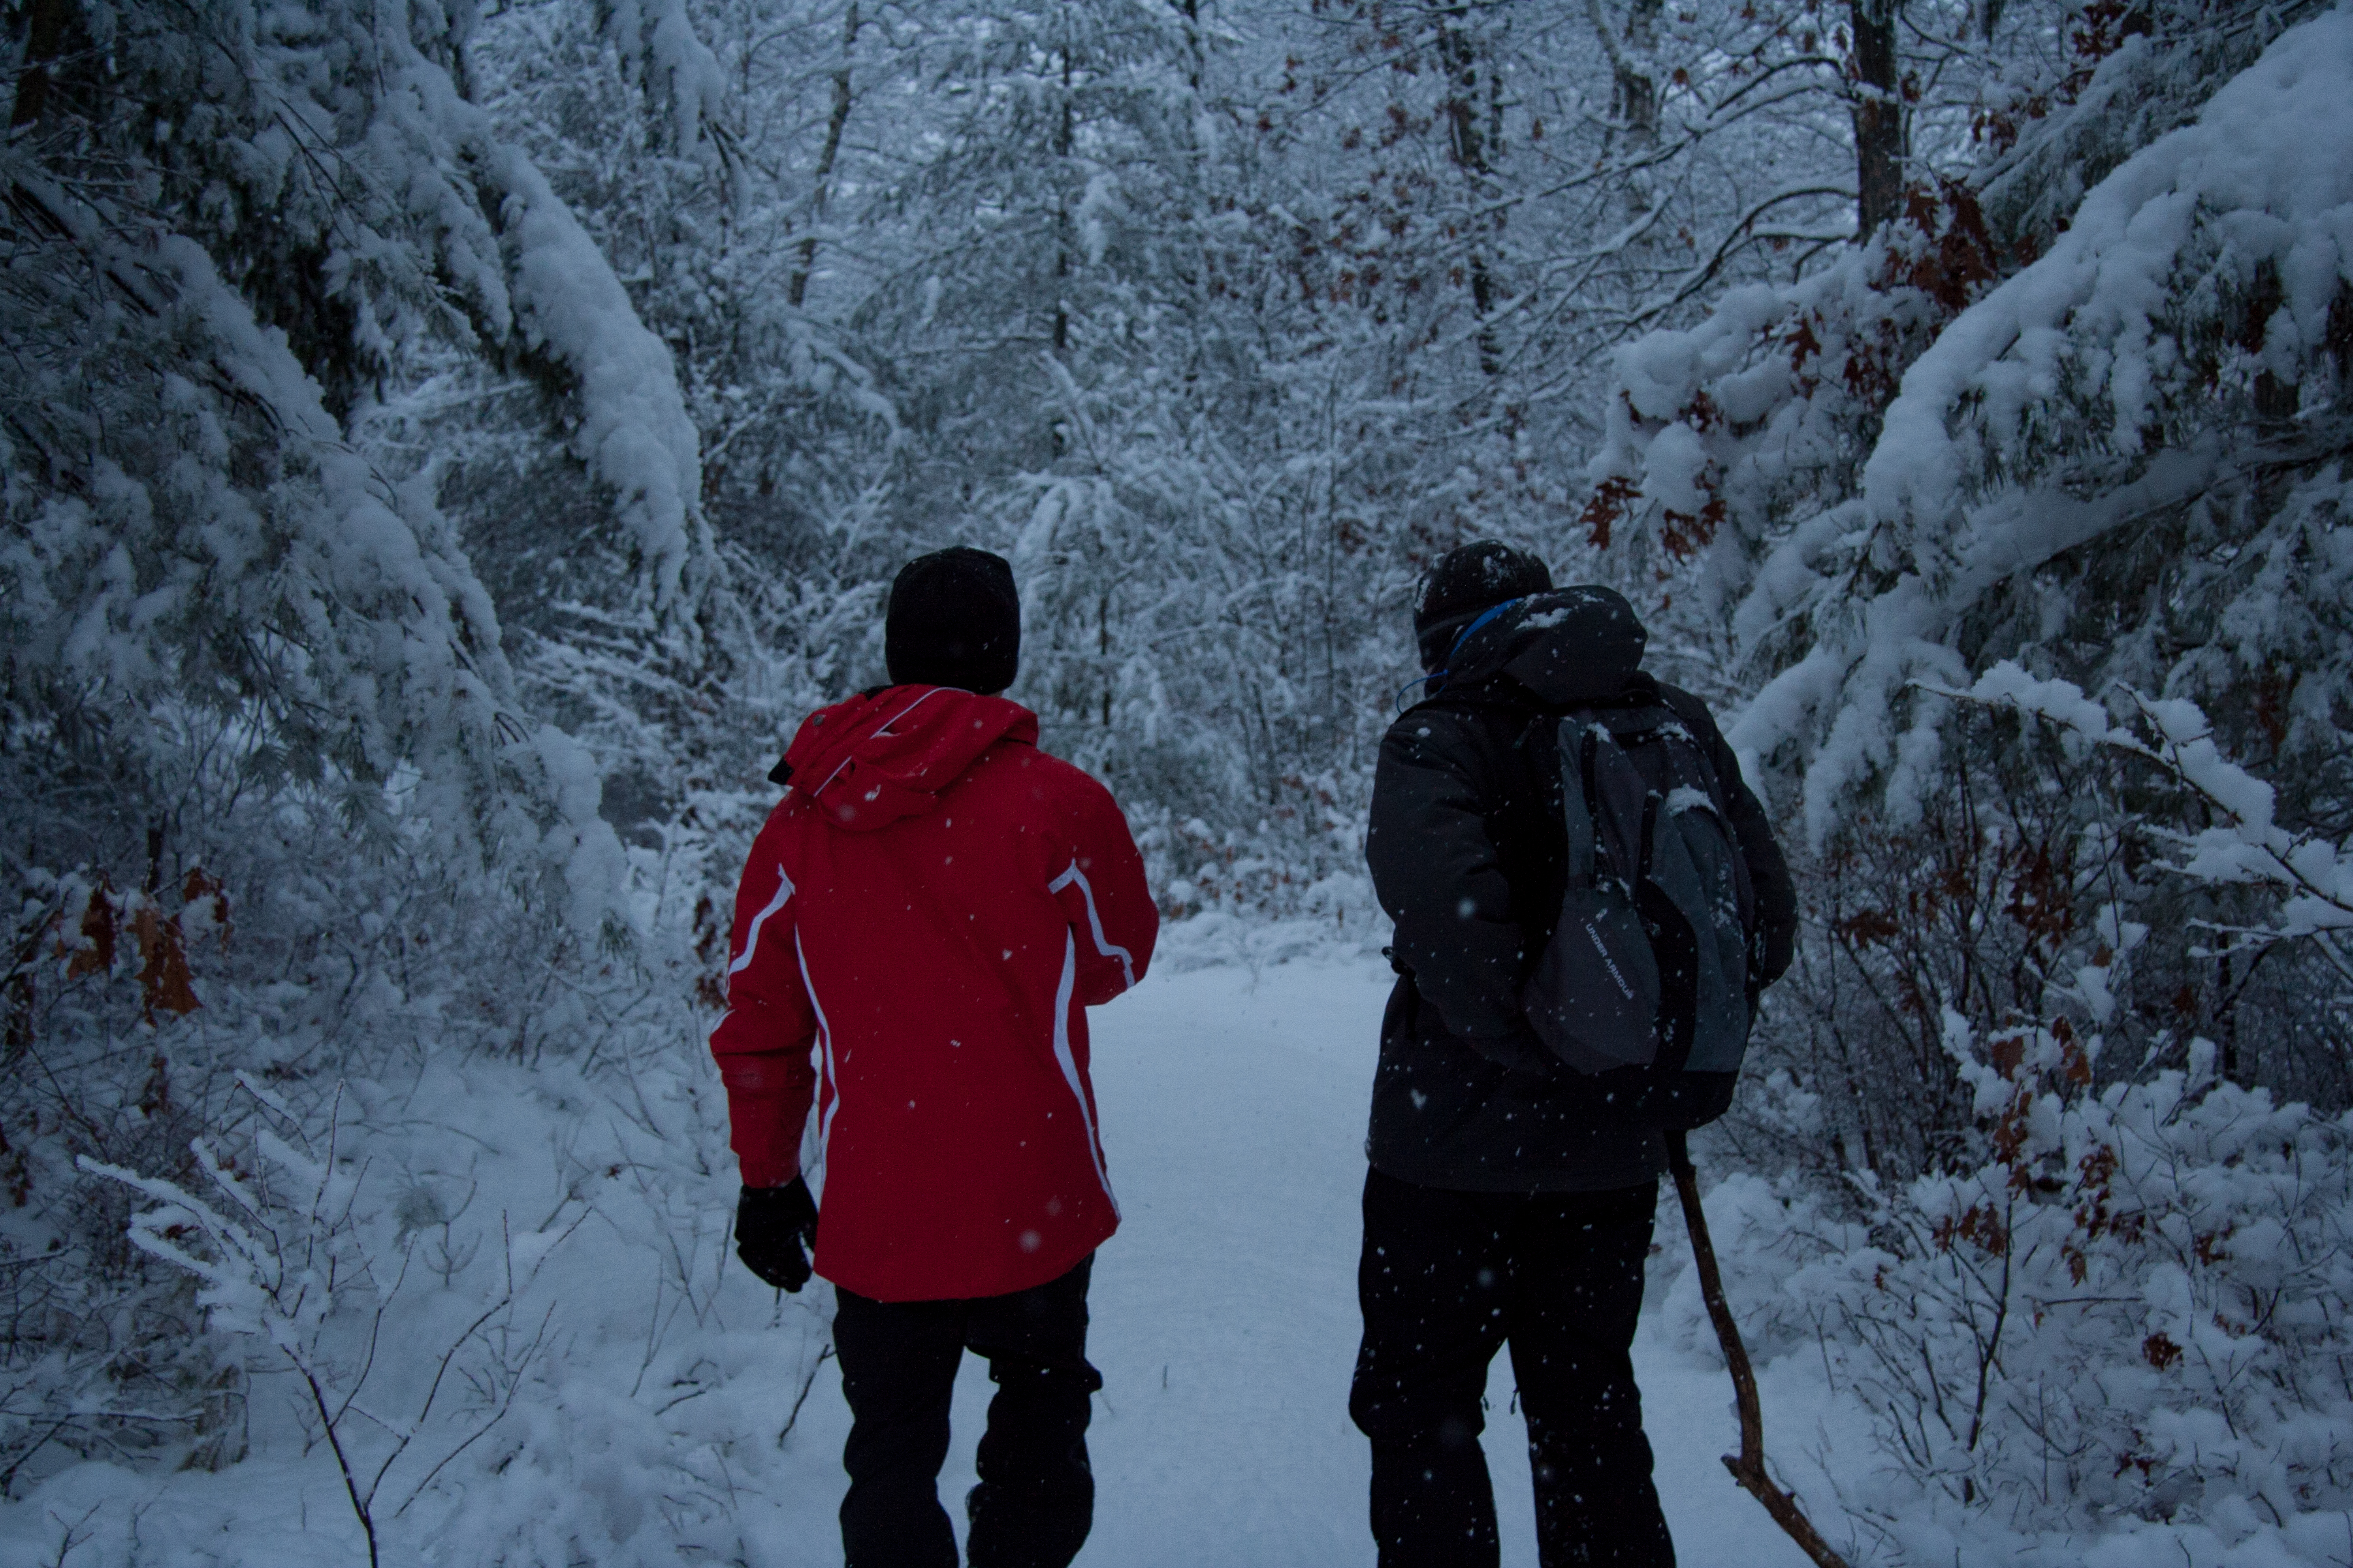
[(981, 1436), (981, 1483), (965, 1500), (972, 1568), (1066, 1568), (1094, 1526), (1087, 1469), (1087, 1272), (944, 1302), (878, 1302), (835, 1288), (833, 1349), (849, 1399), (842, 1469), (845, 1568), (955, 1568), (939, 1507), (948, 1396), (965, 1352), (998, 1385)]

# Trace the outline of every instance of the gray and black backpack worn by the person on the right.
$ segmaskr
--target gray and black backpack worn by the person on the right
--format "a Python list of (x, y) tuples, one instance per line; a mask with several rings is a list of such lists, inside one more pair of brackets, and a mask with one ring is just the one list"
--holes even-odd
[(1664, 705), (1558, 724), (1567, 891), (1520, 1004), (1612, 1103), (1704, 1126), (1732, 1105), (1753, 1006), (1755, 893), (1722, 783)]

